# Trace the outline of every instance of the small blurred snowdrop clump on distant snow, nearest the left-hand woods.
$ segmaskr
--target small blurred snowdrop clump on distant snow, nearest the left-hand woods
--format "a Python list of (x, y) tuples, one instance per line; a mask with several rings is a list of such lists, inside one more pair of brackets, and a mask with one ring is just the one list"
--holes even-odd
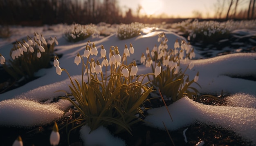
[(90, 36), (99, 36), (99, 31), (97, 31), (97, 27), (94, 24), (72, 24), (64, 33), (64, 37), (68, 42), (79, 42)]

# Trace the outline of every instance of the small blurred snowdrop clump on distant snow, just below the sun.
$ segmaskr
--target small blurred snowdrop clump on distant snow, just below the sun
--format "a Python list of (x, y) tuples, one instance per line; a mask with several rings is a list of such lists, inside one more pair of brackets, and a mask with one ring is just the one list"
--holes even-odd
[(139, 22), (132, 22), (130, 24), (120, 24), (117, 28), (117, 37), (120, 40), (133, 38), (141, 34), (140, 32), (143, 27), (144, 24)]

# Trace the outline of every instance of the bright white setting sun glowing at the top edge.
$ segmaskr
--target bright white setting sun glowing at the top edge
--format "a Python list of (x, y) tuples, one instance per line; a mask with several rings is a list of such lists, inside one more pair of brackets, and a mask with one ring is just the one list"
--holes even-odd
[(153, 15), (162, 8), (162, 0), (142, 0), (142, 11), (146, 15)]

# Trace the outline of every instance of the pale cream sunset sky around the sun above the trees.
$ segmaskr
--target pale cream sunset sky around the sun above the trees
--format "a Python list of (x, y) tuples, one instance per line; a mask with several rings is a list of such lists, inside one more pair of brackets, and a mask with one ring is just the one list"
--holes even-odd
[[(145, 12), (156, 15), (166, 13), (168, 16), (173, 16), (174, 18), (177, 16), (190, 18), (193, 17), (193, 11), (195, 10), (202, 13), (203, 17), (206, 17), (207, 13), (212, 17), (215, 11), (214, 5), (217, 2), (218, 0), (119, 0), (119, 5), (121, 8), (131, 8), (136, 12), (140, 4), (143, 7), (141, 14)], [(242, 2), (242, 7), (244, 6), (245, 1)]]

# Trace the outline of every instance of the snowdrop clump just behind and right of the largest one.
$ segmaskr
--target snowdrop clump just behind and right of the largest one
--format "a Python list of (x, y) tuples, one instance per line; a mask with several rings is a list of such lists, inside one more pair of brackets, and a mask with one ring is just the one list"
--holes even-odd
[(192, 46), (184, 40), (180, 42), (176, 40), (174, 49), (168, 49), (168, 39), (165, 33), (158, 35), (158, 42), (160, 42), (158, 47), (155, 45), (151, 51), (147, 48), (146, 55), (144, 53), (141, 55), (141, 63), (146, 67), (151, 67), (155, 74), (149, 84), (155, 89), (160, 89), (164, 98), (173, 102), (184, 96), (192, 98), (193, 95), (197, 95), (198, 90), (191, 87), (191, 84), (198, 84), (199, 73), (190, 80), (185, 72), (187, 69), (192, 69), (193, 64), (190, 63), (184, 71), (180, 68), (180, 60), (188, 61), (195, 57)]

